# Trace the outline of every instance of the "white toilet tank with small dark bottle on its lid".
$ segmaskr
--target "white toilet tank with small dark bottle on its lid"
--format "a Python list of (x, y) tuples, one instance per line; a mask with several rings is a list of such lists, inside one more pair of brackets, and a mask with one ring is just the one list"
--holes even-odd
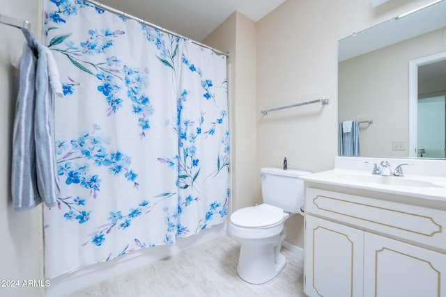
[(263, 203), (297, 214), (299, 205), (304, 199), (304, 181), (299, 177), (312, 172), (261, 168), (260, 173)]

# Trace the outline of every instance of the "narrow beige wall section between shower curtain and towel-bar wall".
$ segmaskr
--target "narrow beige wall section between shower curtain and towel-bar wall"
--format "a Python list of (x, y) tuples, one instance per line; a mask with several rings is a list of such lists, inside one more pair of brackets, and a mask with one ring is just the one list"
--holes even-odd
[(256, 24), (233, 13), (203, 43), (229, 51), (231, 211), (252, 206), (256, 179)]

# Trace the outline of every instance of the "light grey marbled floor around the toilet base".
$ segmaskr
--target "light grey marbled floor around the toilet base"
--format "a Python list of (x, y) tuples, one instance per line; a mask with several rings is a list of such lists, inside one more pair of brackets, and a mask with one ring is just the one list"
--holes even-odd
[(240, 245), (227, 236), (214, 239), (70, 297), (305, 296), (302, 256), (282, 248), (287, 259), (282, 273), (266, 284), (249, 284), (236, 273), (239, 251)]

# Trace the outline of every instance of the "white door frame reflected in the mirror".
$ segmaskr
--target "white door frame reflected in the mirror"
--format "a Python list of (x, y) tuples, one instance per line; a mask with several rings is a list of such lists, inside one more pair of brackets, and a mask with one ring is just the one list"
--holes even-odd
[(418, 66), (446, 59), (446, 51), (409, 61), (409, 157), (417, 156)]

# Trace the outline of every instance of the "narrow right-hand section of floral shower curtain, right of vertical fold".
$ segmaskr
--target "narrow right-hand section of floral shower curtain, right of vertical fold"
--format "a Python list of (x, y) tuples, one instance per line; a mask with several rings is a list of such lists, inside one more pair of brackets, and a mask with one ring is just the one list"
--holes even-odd
[[(226, 64), (221, 60), (192, 42), (183, 47), (178, 99), (181, 236), (222, 223), (227, 214), (229, 130), (227, 100), (222, 100), (226, 98)], [(203, 203), (206, 198), (211, 203)]]

